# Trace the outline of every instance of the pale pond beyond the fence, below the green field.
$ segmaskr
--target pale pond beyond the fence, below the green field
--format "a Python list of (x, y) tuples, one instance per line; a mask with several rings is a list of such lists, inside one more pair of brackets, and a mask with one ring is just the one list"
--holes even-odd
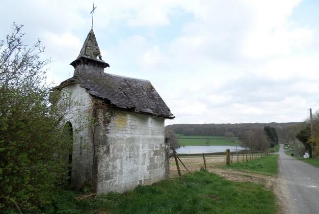
[[(226, 152), (230, 149), (231, 152), (236, 152), (236, 146), (185, 146), (175, 149), (177, 154), (198, 154), (198, 153), (216, 153)], [(243, 147), (237, 147), (238, 152), (246, 150)], [(172, 152), (172, 151), (171, 151)]]

